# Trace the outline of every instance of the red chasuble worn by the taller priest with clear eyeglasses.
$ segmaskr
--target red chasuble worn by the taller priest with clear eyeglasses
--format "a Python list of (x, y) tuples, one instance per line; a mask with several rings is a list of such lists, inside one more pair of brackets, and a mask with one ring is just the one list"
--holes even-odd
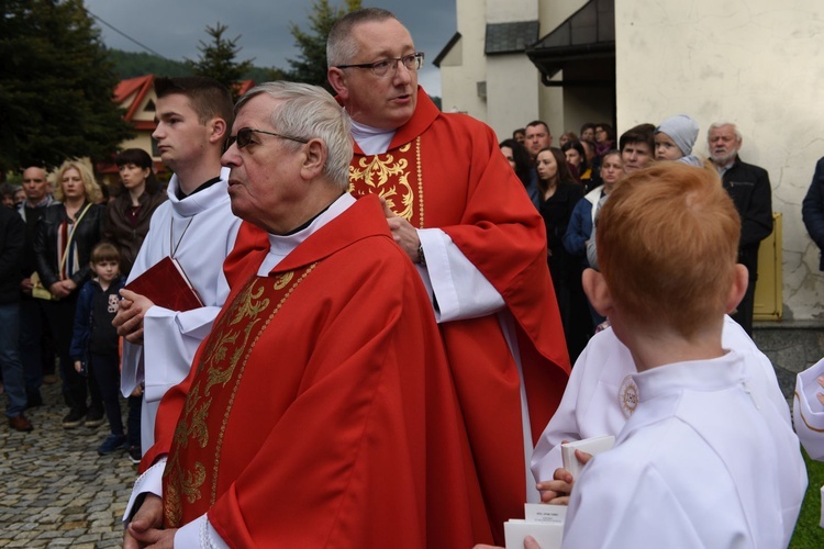
[[(492, 130), (444, 114), (419, 88), (412, 119), (386, 154), (356, 145), (355, 194), (376, 193), (416, 228), (443, 229), (515, 318), (533, 440), (560, 403), (569, 356), (546, 264), (544, 222)], [(495, 541), (523, 516), (526, 470), (520, 380), (497, 315), (439, 325)]]

